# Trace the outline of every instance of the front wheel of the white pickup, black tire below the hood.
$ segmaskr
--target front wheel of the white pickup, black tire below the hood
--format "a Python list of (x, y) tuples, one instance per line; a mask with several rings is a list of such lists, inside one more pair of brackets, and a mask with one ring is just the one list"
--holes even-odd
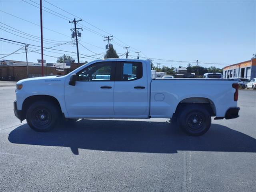
[(60, 120), (60, 110), (52, 102), (34, 102), (28, 107), (26, 119), (28, 125), (33, 130), (37, 132), (48, 132)]

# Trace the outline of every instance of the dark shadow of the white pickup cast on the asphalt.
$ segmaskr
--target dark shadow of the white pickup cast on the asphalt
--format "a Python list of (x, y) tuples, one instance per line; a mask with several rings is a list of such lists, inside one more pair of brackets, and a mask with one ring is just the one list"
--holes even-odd
[(146, 153), (256, 152), (255, 138), (219, 124), (212, 124), (203, 136), (192, 137), (168, 122), (84, 119), (65, 122), (46, 133), (35, 132), (24, 124), (12, 130), (8, 140), (16, 144), (70, 147), (76, 155), (79, 148)]

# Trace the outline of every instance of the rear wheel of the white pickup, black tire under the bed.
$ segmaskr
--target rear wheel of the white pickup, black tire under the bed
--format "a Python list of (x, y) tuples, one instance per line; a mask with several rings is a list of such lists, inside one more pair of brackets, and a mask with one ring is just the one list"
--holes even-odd
[(190, 136), (205, 134), (209, 130), (211, 122), (208, 110), (198, 104), (184, 106), (178, 116), (180, 128)]

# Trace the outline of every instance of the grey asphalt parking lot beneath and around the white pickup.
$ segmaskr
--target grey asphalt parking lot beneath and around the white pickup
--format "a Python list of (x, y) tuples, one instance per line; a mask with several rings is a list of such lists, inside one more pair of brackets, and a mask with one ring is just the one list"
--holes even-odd
[(240, 90), (240, 117), (186, 136), (168, 119), (92, 120), (38, 133), (0, 88), (0, 191), (256, 191), (256, 91)]

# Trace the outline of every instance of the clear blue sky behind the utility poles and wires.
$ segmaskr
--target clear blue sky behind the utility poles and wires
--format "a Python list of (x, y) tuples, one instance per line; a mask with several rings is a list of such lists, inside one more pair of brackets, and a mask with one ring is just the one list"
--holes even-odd
[[(39, 4), (38, 0), (33, 1)], [(38, 6), (34, 2), (27, 2)], [(114, 42), (112, 44), (118, 53), (123, 54), (125, 52), (125, 49), (122, 47), (126, 46), (126, 44), (132, 47), (129, 50), (130, 58), (136, 55), (134, 52), (140, 50), (142, 51), (140, 53), (141, 56), (149, 58), (192, 62), (198, 59), (198, 62), (234, 64), (250, 60), (252, 54), (256, 53), (256, 1), (49, 0), (48, 2), (84, 20), (79, 22), (80, 25), (84, 26), (84, 30), (81, 31), (82, 38), (80, 43), (92, 52), (81, 45), (79, 45), (79, 52), (87, 56), (94, 55), (93, 52), (103, 54), (106, 51), (106, 42), (103, 42), (104, 38), (102, 35), (108, 35), (108, 33), (114, 35)], [(20, 0), (1, 0), (0, 9), (40, 25), (40, 11), (30, 4)], [(43, 1), (43, 6), (68, 18), (74, 18), (74, 16), (45, 1)], [(48, 10), (46, 8), (44, 9)], [(40, 37), (39, 26), (4, 12), (0, 12), (1, 28), (3, 29), (0, 31), (0, 37), (40, 46), (40, 39), (18, 34), (13, 29), (15, 28)], [(86, 22), (105, 32), (94, 28), (94, 26)], [(64, 34), (58, 34), (44, 28), (44, 38), (50, 39), (48, 43), (54, 44), (46, 44), (47, 42), (45, 42), (44, 47), (51, 47), (71, 41), (70, 28), (74, 26), (68, 23), (68, 20), (43, 11), (43, 26)], [(94, 34), (86, 30), (86, 27), (100, 34)], [(23, 37), (16, 36), (10, 32)], [(24, 37), (39, 42), (28, 40)], [(0, 54), (12, 53), (21, 47), (20, 45), (1, 41)], [(35, 48), (29, 46), (30, 50), (36, 50)], [(74, 52), (66, 52), (66, 54), (76, 58), (76, 46), (71, 43), (57, 46), (55, 49)], [(56, 50), (50, 51), (56, 53), (44, 52), (44, 54), (58, 57), (65, 53)], [(24, 52), (24, 50), (20, 50), (17, 53), (19, 52)], [(56, 58), (50, 56), (44, 56), (46, 62), (55, 62)], [(40, 54), (35, 52), (28, 53), (28, 61), (30, 62), (36, 62), (40, 57)], [(96, 55), (94, 57), (99, 58), (102, 56)], [(13, 54), (3, 59), (26, 60), (26, 56), (24, 53)], [(81, 58), (81, 60), (91, 61), (94, 58)], [(179, 65), (186, 66), (188, 64), (187, 62), (156, 59), (153, 62), (174, 67)], [(218, 64), (200, 64), (200, 66), (224, 67), (224, 65)]]

